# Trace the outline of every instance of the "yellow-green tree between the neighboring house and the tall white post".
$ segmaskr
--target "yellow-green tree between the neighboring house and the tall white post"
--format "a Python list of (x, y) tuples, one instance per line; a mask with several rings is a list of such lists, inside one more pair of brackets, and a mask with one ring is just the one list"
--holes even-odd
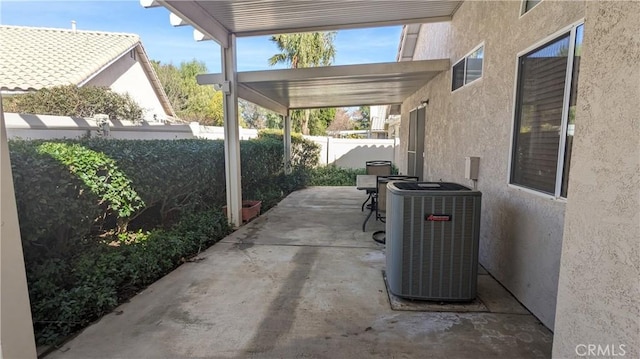
[(152, 64), (178, 117), (201, 125), (222, 126), (222, 92), (198, 85), (196, 81), (197, 75), (207, 73), (204, 62), (182, 62), (180, 67), (158, 61)]

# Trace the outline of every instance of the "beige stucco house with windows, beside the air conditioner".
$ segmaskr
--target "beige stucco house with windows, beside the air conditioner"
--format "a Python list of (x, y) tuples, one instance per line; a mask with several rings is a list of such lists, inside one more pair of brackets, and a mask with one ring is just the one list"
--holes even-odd
[(451, 69), (403, 102), (396, 162), (472, 186), (465, 157), (480, 158), (480, 262), (555, 331), (554, 357), (638, 345), (638, 14), (633, 2), (465, 1), (401, 38), (399, 61)]

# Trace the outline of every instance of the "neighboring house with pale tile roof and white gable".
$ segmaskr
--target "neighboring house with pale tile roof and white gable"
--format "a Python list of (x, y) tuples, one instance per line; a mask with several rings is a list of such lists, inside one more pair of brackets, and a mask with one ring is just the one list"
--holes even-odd
[(70, 84), (105, 86), (128, 93), (148, 122), (176, 116), (138, 35), (3, 25), (0, 44), (3, 95)]

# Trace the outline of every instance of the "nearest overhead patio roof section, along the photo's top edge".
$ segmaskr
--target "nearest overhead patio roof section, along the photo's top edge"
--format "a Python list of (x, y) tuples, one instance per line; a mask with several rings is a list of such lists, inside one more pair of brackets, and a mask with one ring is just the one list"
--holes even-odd
[(462, 1), (142, 0), (161, 5), (223, 47), (237, 37), (450, 21)]

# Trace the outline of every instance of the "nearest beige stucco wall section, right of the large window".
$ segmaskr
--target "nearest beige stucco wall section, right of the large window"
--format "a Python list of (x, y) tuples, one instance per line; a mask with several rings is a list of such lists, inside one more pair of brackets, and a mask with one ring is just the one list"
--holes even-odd
[(553, 356), (640, 358), (640, 3), (585, 18)]

